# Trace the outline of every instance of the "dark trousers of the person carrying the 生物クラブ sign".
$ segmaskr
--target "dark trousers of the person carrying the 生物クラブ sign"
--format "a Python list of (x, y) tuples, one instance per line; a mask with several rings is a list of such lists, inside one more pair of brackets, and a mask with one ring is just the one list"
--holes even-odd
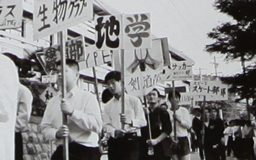
[[(99, 147), (86, 147), (76, 142), (71, 142), (68, 145), (69, 160), (99, 160)], [(63, 145), (59, 145), (56, 151), (52, 154), (51, 160), (63, 160)]]

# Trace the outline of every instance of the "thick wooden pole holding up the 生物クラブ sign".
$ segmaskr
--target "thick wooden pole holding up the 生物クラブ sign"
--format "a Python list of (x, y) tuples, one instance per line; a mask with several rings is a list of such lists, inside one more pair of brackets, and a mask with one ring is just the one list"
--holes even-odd
[[(60, 43), (60, 55), (61, 55), (61, 94), (62, 98), (65, 98), (67, 93), (65, 66), (66, 66), (66, 54), (65, 54), (65, 39), (63, 38), (62, 31), (58, 32), (58, 40)], [(62, 113), (62, 124), (67, 125), (67, 115)], [(63, 139), (63, 159), (68, 160), (68, 137)]]

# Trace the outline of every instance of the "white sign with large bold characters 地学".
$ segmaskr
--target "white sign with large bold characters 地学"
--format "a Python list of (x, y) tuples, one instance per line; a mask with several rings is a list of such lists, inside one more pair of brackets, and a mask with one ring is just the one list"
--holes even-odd
[(149, 13), (100, 16), (95, 23), (97, 50), (151, 48)]

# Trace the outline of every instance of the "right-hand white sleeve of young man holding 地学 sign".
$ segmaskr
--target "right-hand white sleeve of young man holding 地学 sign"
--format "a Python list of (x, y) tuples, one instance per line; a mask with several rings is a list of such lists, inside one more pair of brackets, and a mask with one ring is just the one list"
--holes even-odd
[(138, 98), (136, 98), (136, 101), (134, 103), (134, 113), (135, 113), (135, 118), (132, 119), (132, 126), (138, 127), (138, 128), (146, 126), (147, 121), (143, 112), (141, 102)]

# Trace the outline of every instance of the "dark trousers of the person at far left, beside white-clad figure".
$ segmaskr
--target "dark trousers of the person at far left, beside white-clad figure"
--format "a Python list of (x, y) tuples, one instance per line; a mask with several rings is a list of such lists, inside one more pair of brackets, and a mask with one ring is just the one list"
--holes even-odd
[(23, 143), (21, 132), (15, 133), (15, 160), (23, 160)]

